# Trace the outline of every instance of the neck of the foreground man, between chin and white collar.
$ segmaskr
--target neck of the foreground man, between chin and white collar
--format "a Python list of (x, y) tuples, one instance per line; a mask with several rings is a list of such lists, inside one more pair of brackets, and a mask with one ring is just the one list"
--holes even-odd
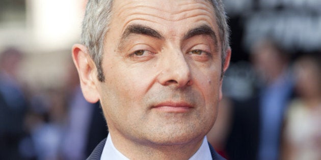
[(110, 131), (114, 146), (129, 159), (189, 159), (201, 146), (204, 137), (180, 144), (157, 144), (130, 140)]

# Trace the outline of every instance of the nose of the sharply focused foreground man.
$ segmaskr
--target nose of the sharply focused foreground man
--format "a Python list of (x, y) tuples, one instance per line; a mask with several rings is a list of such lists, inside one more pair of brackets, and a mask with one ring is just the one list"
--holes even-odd
[(157, 79), (162, 85), (181, 88), (193, 84), (189, 64), (181, 51), (164, 53), (160, 66)]

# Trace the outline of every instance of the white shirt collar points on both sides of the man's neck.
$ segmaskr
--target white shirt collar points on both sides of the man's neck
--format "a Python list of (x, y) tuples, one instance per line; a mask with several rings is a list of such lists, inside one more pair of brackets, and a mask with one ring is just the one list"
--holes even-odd
[[(125, 155), (123, 155), (121, 152), (119, 152), (115, 148), (110, 134), (108, 134), (106, 143), (103, 147), (102, 154), (100, 157), (100, 160), (106, 160), (106, 159), (128, 160), (128, 158)], [(196, 159), (212, 159), (206, 136), (203, 139), (201, 147), (190, 158), (190, 160), (196, 160)]]

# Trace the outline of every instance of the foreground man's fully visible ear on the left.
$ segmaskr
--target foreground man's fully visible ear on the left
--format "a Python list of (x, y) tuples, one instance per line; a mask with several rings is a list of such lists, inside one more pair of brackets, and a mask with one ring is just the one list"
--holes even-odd
[(97, 90), (97, 68), (90, 57), (86, 46), (75, 44), (72, 46), (72, 59), (77, 68), (80, 84), (85, 99), (90, 103), (96, 103), (99, 100)]

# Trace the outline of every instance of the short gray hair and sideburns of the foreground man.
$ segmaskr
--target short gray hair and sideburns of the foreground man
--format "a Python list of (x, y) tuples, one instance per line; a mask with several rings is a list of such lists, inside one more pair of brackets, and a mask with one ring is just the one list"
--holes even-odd
[[(227, 25), (227, 16), (224, 11), (222, 0), (207, 0), (212, 4), (217, 23), (219, 37), (222, 42), (222, 66), (224, 65), (226, 51), (229, 48), (230, 29)], [(84, 44), (98, 70), (98, 80), (104, 81), (101, 67), (103, 56), (104, 37), (109, 30), (112, 17), (113, 0), (88, 0), (86, 13), (83, 20), (81, 43)]]

